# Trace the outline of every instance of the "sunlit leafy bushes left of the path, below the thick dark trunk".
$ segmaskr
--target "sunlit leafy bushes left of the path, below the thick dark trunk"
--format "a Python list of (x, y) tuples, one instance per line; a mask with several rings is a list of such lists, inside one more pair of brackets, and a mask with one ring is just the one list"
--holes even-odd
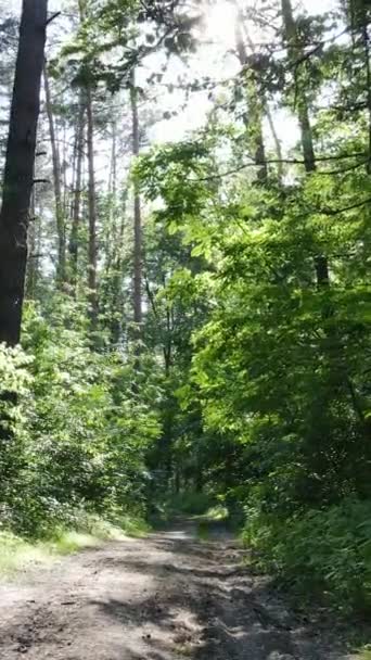
[(120, 355), (91, 351), (78, 318), (62, 299), (52, 326), (31, 308), (26, 354), (2, 353), (2, 382), (17, 406), (1, 518), (29, 536), (73, 525), (80, 507), (112, 520), (145, 508), (144, 456), (159, 433), (156, 412), (132, 399), (131, 367)]

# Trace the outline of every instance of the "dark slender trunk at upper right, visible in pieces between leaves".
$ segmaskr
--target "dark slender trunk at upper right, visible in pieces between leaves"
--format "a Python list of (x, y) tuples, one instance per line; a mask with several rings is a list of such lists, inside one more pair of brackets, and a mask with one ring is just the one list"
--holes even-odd
[[(291, 0), (281, 0), (281, 7), (284, 35), (289, 45), (289, 56), (291, 59), (294, 69), (296, 69), (296, 62), (303, 59), (304, 51), (298, 40), (298, 34), (296, 29), (296, 23), (293, 14)], [(297, 85), (296, 105), (297, 118), (300, 127), (302, 149), (305, 162), (305, 169), (307, 174), (311, 174), (317, 169), (314, 136), (309, 116), (309, 103), (304, 88), (304, 84), (300, 85), (300, 81), (298, 81)], [(315, 267), (318, 287), (329, 287), (330, 276), (327, 256), (324, 256), (323, 254), (317, 255), (315, 258)]]

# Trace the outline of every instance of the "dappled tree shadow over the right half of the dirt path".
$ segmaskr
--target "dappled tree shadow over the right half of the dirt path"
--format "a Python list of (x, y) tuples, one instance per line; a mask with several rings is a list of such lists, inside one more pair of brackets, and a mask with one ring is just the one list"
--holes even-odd
[[(330, 657), (317, 648), (310, 635), (303, 634), (292, 614), (287, 623), (277, 613), (277, 604), (267, 602), (266, 585), (253, 584), (244, 570), (241, 576), (234, 567), (232, 572), (227, 563), (220, 567), (217, 558), (209, 556), (210, 547), (205, 556), (203, 544), (168, 537), (152, 537), (151, 546), (165, 554), (150, 554), (145, 560), (115, 558), (114, 562), (123, 570), (155, 575), (155, 596), (136, 604), (125, 599), (94, 604), (105, 617), (120, 621), (126, 631), (137, 631), (138, 640), (141, 637), (143, 650), (124, 644), (123, 660), (175, 660), (184, 655), (193, 660)], [(197, 557), (196, 566), (192, 556)], [(209, 559), (215, 568), (206, 563)], [(148, 637), (142, 635), (143, 630), (150, 631)], [(297, 655), (299, 643), (306, 655)]]

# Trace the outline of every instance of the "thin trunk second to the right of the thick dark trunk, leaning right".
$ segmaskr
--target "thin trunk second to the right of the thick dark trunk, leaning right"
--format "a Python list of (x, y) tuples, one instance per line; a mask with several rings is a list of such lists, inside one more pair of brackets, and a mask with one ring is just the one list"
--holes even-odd
[(77, 281), (78, 269), (78, 230), (81, 216), (81, 188), (82, 188), (82, 161), (84, 161), (84, 137), (85, 137), (85, 105), (82, 94), (80, 96), (79, 113), (76, 127), (75, 141), (75, 183), (74, 183), (74, 201), (72, 210), (72, 228), (69, 236), (68, 251), (71, 256), (71, 281), (75, 287)]

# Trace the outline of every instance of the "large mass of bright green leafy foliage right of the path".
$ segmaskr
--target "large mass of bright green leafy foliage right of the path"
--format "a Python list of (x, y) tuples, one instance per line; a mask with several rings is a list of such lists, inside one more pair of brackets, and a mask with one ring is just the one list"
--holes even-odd
[[(191, 248), (162, 295), (208, 303), (176, 390), (175, 465), (186, 481), (188, 465), (194, 483), (201, 472), (238, 516), (248, 503), (244, 537), (261, 568), (343, 612), (368, 610), (370, 223), (354, 203), (369, 175), (324, 167), (292, 186), (216, 187), (216, 141), (199, 144), (157, 150), (137, 169), (163, 202), (157, 223)], [(359, 147), (343, 134), (338, 149)]]

